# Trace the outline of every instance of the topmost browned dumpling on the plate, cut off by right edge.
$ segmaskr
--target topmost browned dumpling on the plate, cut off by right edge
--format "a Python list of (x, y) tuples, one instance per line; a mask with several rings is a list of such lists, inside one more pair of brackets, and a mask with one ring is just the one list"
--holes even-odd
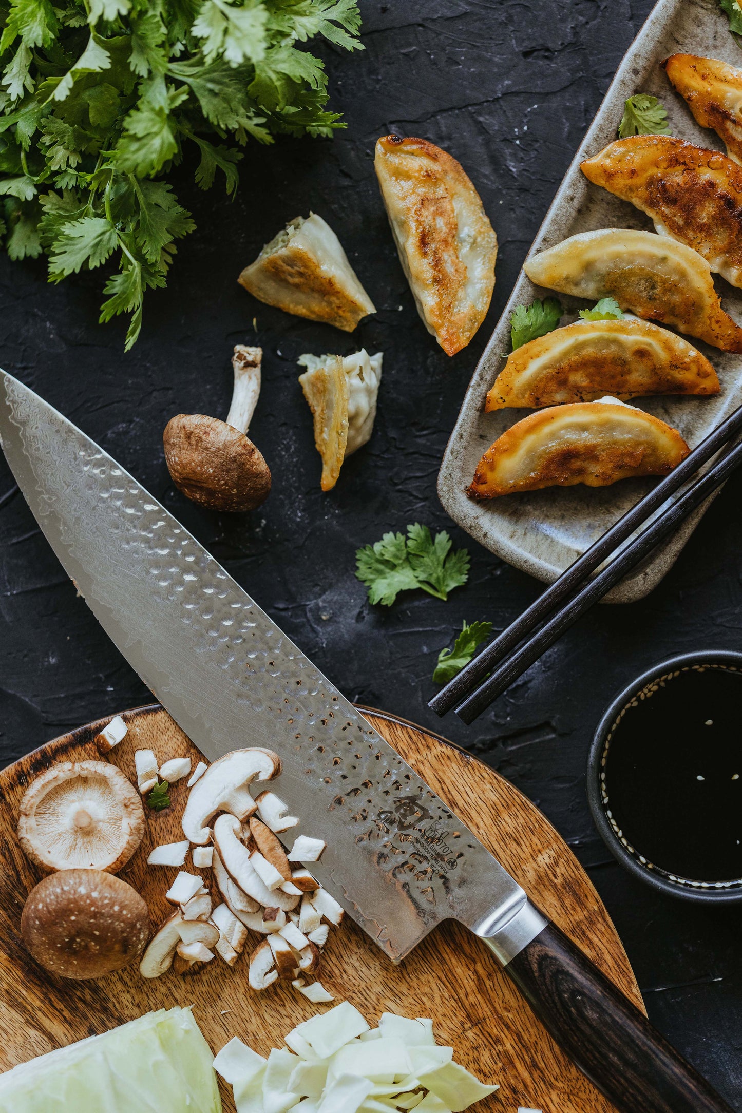
[(742, 70), (695, 55), (672, 55), (662, 65), (701, 127), (713, 128), (742, 164)]

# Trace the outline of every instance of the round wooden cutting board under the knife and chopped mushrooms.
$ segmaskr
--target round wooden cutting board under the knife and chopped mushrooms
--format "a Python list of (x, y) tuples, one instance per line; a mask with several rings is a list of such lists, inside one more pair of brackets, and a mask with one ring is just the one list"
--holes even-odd
[[(373, 726), (497, 854), (530, 896), (640, 1007), (642, 998), (615, 928), (572, 851), (545, 817), (513, 785), (444, 739), (382, 712), (366, 712)], [(109, 759), (136, 784), (133, 754), (152, 749), (159, 762), (199, 759), (196, 748), (159, 705), (123, 712), (129, 732)], [(52, 760), (99, 759), (93, 737), (108, 718), (56, 738), (0, 772), (0, 1070), (83, 1036), (105, 1032), (151, 1008), (194, 1005), (212, 1050), (239, 1035), (256, 1051), (281, 1047), (283, 1035), (320, 1006), (290, 985), (254, 993), (247, 985), (247, 954), (234, 968), (218, 957), (197, 976), (172, 972), (145, 981), (137, 965), (97, 982), (58, 978), (38, 966), (19, 935), (23, 902), (41, 874), (16, 838), (18, 806), (28, 784)], [(165, 900), (176, 870), (147, 866), (150, 849), (182, 838), (186, 782), (172, 786), (172, 807), (148, 811), (144, 841), (120, 876), (147, 900), (152, 920), (171, 910)], [(146, 809), (147, 810), (147, 809)], [(311, 834), (310, 831), (308, 834)], [(186, 859), (190, 869), (190, 856)], [(194, 870), (197, 873), (198, 870)], [(209, 884), (209, 870), (204, 871)], [(218, 893), (216, 886), (214, 892)], [(257, 937), (255, 939), (257, 942)], [(544, 1113), (607, 1113), (613, 1106), (552, 1042), (486, 947), (447, 922), (393, 966), (349, 917), (330, 930), (320, 972), (337, 1001), (348, 999), (372, 1025), (382, 1012), (431, 1016), (439, 1043), (499, 1091), (479, 1113), (515, 1113), (518, 1105)], [(230, 1089), (222, 1086), (231, 1113)]]

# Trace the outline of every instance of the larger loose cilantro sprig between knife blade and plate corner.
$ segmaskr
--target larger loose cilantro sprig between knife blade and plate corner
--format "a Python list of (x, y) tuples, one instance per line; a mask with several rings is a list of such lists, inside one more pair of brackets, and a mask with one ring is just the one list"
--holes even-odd
[(466, 583), (469, 555), (466, 549), (451, 552), (452, 541), (443, 531), (431, 536), (427, 525), (415, 522), (402, 533), (385, 533), (380, 541), (356, 552), (356, 575), (368, 588), (372, 603), (390, 607), (400, 591), (422, 588), (436, 599)]

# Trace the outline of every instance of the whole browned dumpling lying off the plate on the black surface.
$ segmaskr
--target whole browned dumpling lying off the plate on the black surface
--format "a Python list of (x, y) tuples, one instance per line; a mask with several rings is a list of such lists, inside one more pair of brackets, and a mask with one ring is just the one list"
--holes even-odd
[(455, 158), (425, 139), (384, 136), (376, 175), (417, 312), (447, 355), (474, 336), (495, 285), (497, 237)]

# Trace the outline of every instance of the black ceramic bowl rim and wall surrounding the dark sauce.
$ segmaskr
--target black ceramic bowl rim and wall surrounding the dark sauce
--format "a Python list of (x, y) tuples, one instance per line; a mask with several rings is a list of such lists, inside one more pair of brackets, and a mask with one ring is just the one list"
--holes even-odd
[(670, 687), (683, 670), (698, 670), (699, 667), (703, 666), (739, 674), (742, 673), (742, 653), (730, 650), (706, 650), (673, 657), (644, 672), (613, 700), (598, 723), (590, 749), (587, 800), (595, 826), (609, 850), (620, 865), (641, 881), (682, 900), (693, 900), (700, 904), (740, 904), (742, 903), (742, 876), (738, 880), (725, 881), (718, 881), (713, 878), (689, 879), (659, 868), (651, 860), (647, 860), (642, 854), (642, 848), (632, 845), (616, 821), (617, 817), (613, 815), (611, 809), (611, 782), (610, 779), (605, 780), (606, 759), (611, 742), (615, 736), (615, 742), (620, 745), (620, 735), (616, 728), (626, 711), (637, 706), (635, 703), (637, 699), (649, 698), (653, 690), (656, 691), (655, 684), (662, 682), (663, 688)]

